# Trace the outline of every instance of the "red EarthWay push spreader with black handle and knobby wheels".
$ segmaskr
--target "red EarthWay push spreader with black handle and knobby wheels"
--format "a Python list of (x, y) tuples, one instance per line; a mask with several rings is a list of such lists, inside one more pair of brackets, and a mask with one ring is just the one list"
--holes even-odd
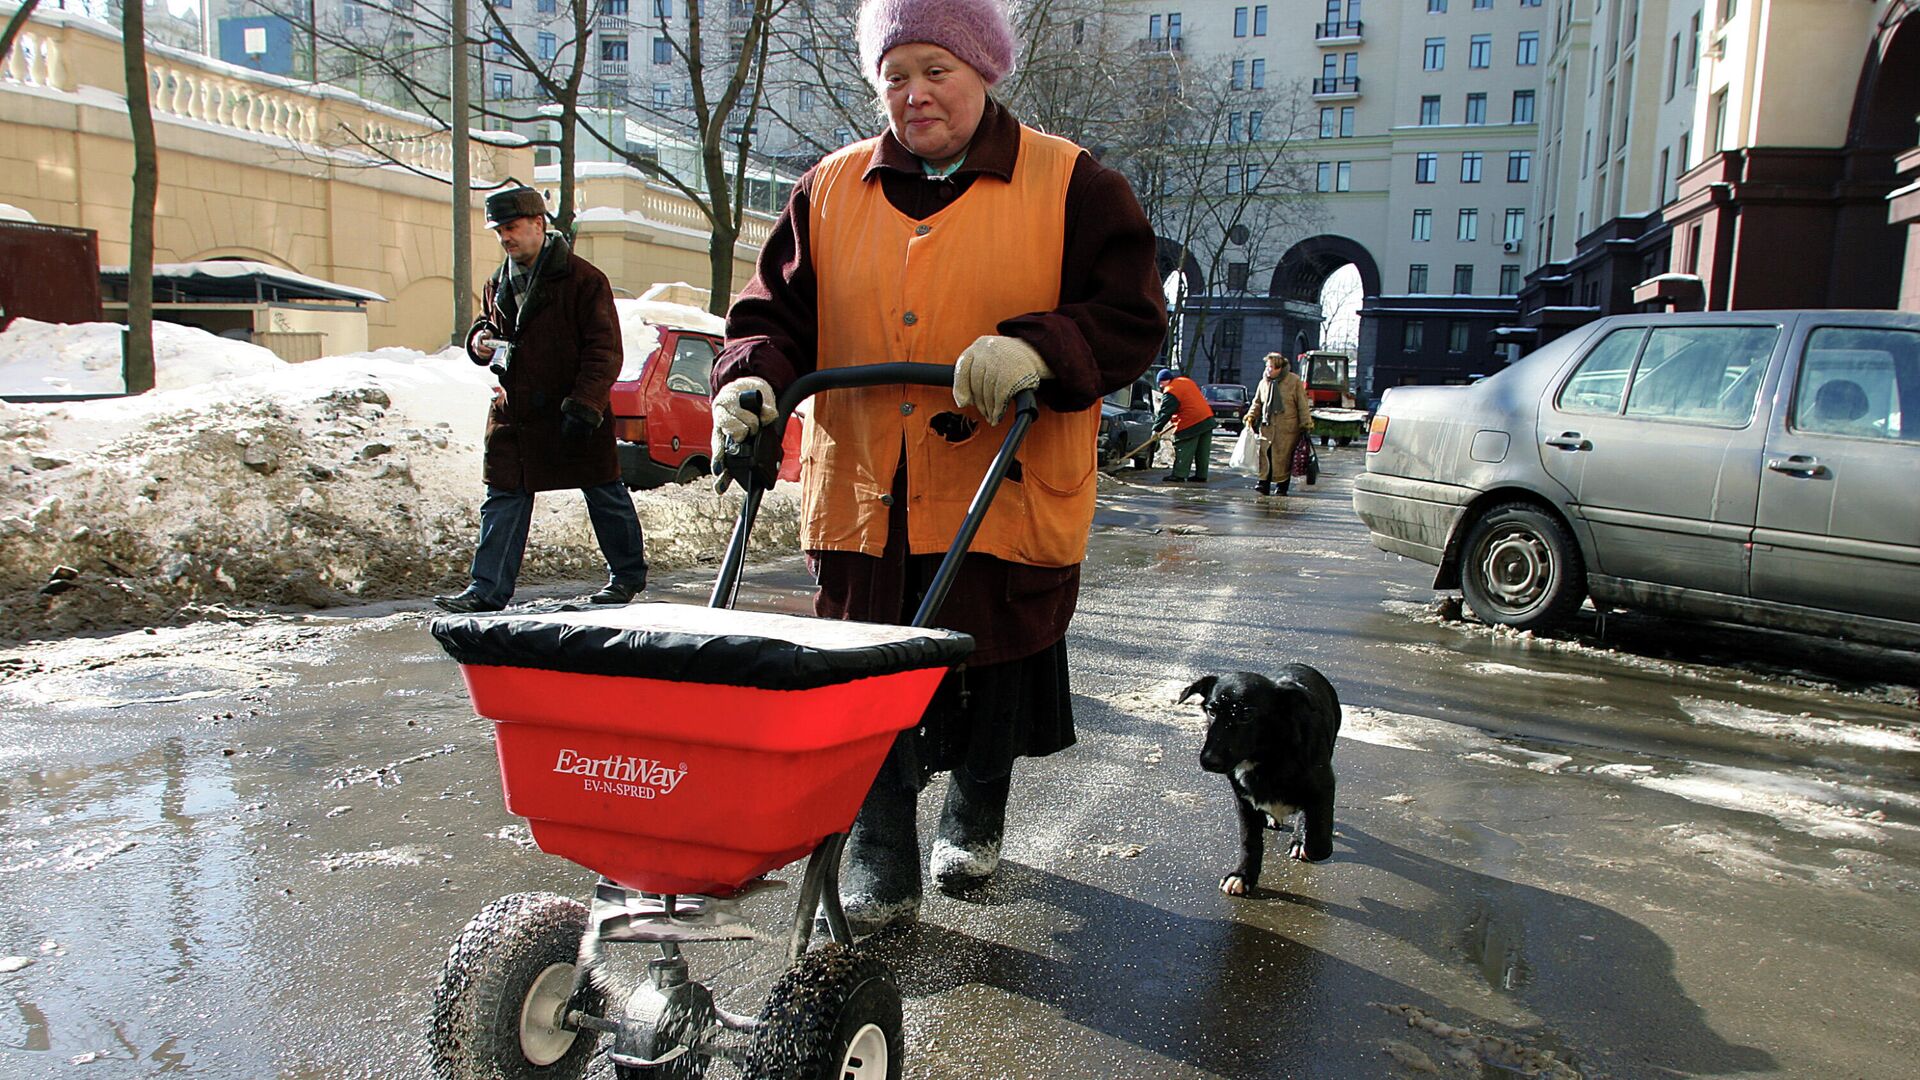
[[(900, 1076), (900, 992), (887, 965), (854, 945), (839, 857), (895, 736), (920, 723), (973, 650), (966, 634), (927, 625), (1037, 415), (1033, 394), (1016, 398), (912, 625), (732, 603), (793, 407), (822, 390), (950, 380), (947, 365), (877, 363), (816, 371), (781, 394), (780, 421), (724, 455), (745, 500), (708, 607), (432, 623), (474, 711), (493, 721), (507, 809), (541, 851), (599, 874), (589, 903), (515, 894), (467, 924), (434, 992), (436, 1076), (578, 1080), (601, 1036), (620, 1080), (699, 1078), (716, 1059), (755, 1078)], [(789, 969), (758, 1017), (730, 1013), (691, 980), (682, 945), (756, 938), (743, 901), (785, 888), (766, 874), (803, 857)], [(818, 947), (816, 913), (831, 938)], [(609, 986), (611, 942), (657, 945), (639, 986)]]

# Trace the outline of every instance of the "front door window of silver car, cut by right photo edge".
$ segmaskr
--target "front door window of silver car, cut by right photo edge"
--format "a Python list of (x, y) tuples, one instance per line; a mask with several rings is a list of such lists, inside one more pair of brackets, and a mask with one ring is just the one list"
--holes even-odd
[(1822, 327), (1809, 334), (1793, 386), (1793, 430), (1920, 440), (1920, 332)]

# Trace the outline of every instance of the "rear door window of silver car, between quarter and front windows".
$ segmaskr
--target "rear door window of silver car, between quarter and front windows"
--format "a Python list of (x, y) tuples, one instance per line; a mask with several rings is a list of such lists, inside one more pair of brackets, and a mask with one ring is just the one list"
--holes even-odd
[(1778, 327), (1659, 327), (1634, 367), (1626, 415), (1745, 427)]

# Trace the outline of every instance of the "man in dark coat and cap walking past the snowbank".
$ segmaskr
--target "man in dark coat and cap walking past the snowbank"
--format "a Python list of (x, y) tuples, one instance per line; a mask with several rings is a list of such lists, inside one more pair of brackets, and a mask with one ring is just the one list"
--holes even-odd
[(434, 603), (457, 613), (505, 607), (520, 577), (534, 492), (559, 488), (586, 496), (607, 555), (607, 586), (591, 601), (626, 603), (647, 588), (647, 548), (607, 421), (622, 357), (612, 286), (547, 231), (547, 206), (534, 188), (493, 192), (486, 217), (507, 258), (467, 332), (467, 356), (499, 377), (486, 421), (480, 546), (472, 584)]

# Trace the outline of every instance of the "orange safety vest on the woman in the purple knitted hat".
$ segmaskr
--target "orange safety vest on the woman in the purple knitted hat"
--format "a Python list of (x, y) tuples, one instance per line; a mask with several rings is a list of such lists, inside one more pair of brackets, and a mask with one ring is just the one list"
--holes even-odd
[[(877, 179), (862, 179), (874, 144), (847, 146), (814, 173), (818, 367), (952, 365), (1002, 319), (1060, 306), (1066, 194), (1079, 146), (1021, 127), (1012, 181), (975, 177), (964, 196), (914, 221), (887, 202)], [(954, 442), (935, 432), (929, 425), (941, 413), (958, 413), (972, 434)], [(908, 550), (945, 552), (1008, 423), (1012, 413), (989, 427), (977, 409), (956, 409), (950, 386), (822, 394), (801, 452), (801, 546), (879, 555), (904, 448)], [(1096, 407), (1041, 405), (1020, 469), (1000, 484), (970, 550), (1035, 567), (1085, 559), (1098, 432)]]

